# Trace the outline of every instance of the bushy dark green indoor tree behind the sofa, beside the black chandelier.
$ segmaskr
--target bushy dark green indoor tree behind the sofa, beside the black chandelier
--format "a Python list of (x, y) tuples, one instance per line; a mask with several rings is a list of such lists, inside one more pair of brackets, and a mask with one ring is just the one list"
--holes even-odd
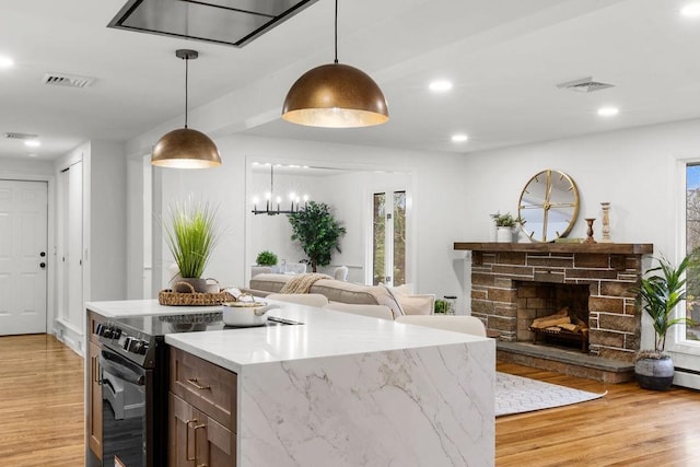
[(310, 201), (288, 218), (292, 224), (292, 241), (301, 243), (313, 272), (317, 266), (330, 264), (334, 249), (341, 253), (340, 237), (346, 234), (346, 227), (334, 218), (328, 205)]

